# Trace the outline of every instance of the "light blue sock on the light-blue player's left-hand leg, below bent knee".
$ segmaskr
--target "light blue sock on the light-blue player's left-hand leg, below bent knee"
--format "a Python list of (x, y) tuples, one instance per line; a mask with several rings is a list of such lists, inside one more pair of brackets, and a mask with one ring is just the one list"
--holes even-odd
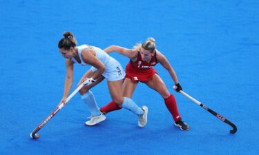
[(101, 114), (99, 107), (95, 101), (95, 96), (93, 96), (92, 92), (88, 91), (86, 94), (81, 95), (81, 99), (84, 100), (84, 103), (86, 103), (86, 105), (88, 105), (90, 113), (93, 116), (97, 116)]

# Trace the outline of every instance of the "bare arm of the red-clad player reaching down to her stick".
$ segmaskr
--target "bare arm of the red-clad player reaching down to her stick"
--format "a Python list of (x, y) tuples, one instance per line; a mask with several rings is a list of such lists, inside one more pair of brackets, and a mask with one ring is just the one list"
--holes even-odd
[(175, 74), (175, 71), (173, 70), (171, 64), (166, 59), (166, 56), (164, 56), (161, 52), (157, 50), (157, 61), (161, 63), (161, 65), (169, 72), (170, 76), (172, 77), (175, 84), (179, 83), (178, 77)]

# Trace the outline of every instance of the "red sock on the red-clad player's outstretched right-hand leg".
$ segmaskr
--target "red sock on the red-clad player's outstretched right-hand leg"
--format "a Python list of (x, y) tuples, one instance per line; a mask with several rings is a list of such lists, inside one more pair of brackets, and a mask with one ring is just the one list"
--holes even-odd
[(173, 120), (179, 121), (181, 120), (181, 116), (178, 112), (178, 106), (176, 105), (175, 97), (171, 94), (167, 99), (164, 99), (164, 103), (166, 104), (167, 109), (173, 116)]

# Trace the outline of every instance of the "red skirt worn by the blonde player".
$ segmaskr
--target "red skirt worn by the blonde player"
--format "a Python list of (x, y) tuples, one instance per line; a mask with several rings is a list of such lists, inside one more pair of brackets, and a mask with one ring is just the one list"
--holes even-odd
[(130, 63), (126, 65), (126, 76), (125, 78), (131, 79), (133, 82), (145, 82), (152, 79), (153, 74), (158, 74), (154, 68), (146, 70), (137, 70), (132, 67)]

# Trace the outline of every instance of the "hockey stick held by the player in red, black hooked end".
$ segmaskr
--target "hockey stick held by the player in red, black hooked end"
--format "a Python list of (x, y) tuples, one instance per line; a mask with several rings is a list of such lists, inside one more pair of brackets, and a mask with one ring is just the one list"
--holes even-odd
[(213, 110), (209, 109), (209, 107), (206, 107), (205, 105), (203, 105), (202, 103), (200, 103), (199, 101), (197, 101), (196, 99), (194, 99), (193, 97), (189, 96), (189, 94), (186, 94), (185, 92), (183, 92), (182, 90), (180, 90), (180, 93), (183, 94), (184, 96), (186, 96), (187, 98), (189, 98), (191, 101), (197, 103), (198, 105), (200, 105), (201, 107), (203, 107), (205, 110), (208, 110), (208, 112), (210, 112), (211, 114), (213, 114), (214, 116), (216, 116), (217, 118), (219, 118), (221, 121), (223, 121), (224, 123), (227, 123), (228, 125), (230, 125), (231, 127), (233, 127), (233, 130), (230, 130), (229, 132), (231, 134), (235, 134), (236, 131), (238, 130), (236, 125), (234, 125), (233, 123), (231, 123), (231, 121), (227, 120), (227, 118), (224, 118), (224, 116), (218, 114), (217, 112), (214, 112)]

